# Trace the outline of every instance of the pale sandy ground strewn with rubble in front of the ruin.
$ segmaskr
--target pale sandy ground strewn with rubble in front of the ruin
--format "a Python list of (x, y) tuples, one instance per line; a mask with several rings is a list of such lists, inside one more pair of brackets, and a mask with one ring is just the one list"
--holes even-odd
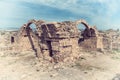
[(0, 36), (0, 80), (120, 80), (120, 52), (80, 52), (74, 63), (38, 60), (34, 52), (7, 50)]

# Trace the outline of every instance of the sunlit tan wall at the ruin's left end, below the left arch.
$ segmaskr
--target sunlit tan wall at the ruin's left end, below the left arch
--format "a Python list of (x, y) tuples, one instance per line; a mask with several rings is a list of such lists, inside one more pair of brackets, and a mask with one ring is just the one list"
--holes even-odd
[[(24, 27), (22, 27), (24, 28)], [(26, 50), (32, 50), (35, 47), (39, 47), (37, 43), (37, 37), (35, 33), (32, 31), (31, 28), (28, 29), (21, 29), (22, 32), (20, 35), (14, 36), (15, 42), (12, 43), (16, 45), (16, 49), (21, 50), (21, 51), (26, 51)], [(27, 33), (29, 31), (29, 33)]]

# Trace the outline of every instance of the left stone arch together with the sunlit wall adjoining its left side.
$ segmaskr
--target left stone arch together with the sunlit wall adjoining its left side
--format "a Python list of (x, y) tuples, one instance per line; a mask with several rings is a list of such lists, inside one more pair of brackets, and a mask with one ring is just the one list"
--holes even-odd
[[(40, 25), (44, 23), (42, 20), (30, 20), (26, 24), (24, 24), (17, 33), (16, 41), (19, 43), (22, 50), (30, 50), (32, 49), (35, 52), (37, 57), (41, 57), (41, 46), (40, 46), (40, 34), (41, 34), (41, 27)], [(36, 30), (33, 32), (32, 26)]]

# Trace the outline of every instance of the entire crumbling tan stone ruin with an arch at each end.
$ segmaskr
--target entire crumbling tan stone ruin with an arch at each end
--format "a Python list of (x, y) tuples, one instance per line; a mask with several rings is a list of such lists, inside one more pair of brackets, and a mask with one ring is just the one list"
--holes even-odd
[[(36, 30), (32, 30), (35, 24)], [(83, 24), (85, 30), (80, 33), (78, 25)], [(81, 34), (81, 35), (80, 35)], [(53, 59), (55, 62), (79, 57), (80, 48), (96, 50), (102, 49), (102, 37), (98, 31), (90, 27), (86, 21), (75, 22), (45, 22), (30, 20), (24, 24), (11, 42), (19, 50), (34, 50), (36, 56), (44, 59)]]

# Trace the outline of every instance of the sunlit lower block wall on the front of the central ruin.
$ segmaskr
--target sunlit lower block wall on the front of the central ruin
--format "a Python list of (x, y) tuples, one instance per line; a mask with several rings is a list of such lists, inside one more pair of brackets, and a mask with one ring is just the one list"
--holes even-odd
[(78, 38), (61, 39), (58, 42), (52, 42), (53, 58), (56, 61), (69, 61), (79, 57), (80, 50)]

